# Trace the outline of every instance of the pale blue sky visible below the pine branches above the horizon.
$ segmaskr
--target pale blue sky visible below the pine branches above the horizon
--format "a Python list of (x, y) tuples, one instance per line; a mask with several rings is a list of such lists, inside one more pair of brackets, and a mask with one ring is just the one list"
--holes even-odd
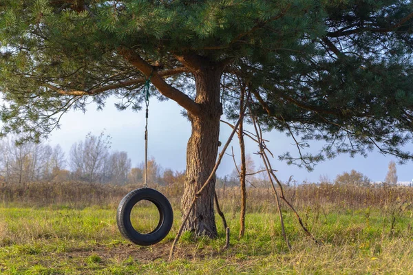
[[(126, 151), (131, 158), (132, 166), (138, 166), (144, 160), (145, 152), (145, 112), (134, 112), (131, 110), (118, 111), (114, 107), (116, 100), (109, 98), (103, 111), (96, 111), (96, 107), (91, 104), (88, 110), (70, 111), (63, 115), (61, 119), (61, 128), (56, 129), (47, 141), (51, 145), (60, 144), (69, 156), (70, 147), (74, 142), (83, 140), (87, 133), (99, 135), (102, 131), (112, 137), (111, 150)], [(186, 146), (189, 136), (191, 135), (191, 124), (181, 115), (182, 107), (172, 100), (158, 102), (152, 99), (149, 105), (149, 157), (154, 157), (156, 162), (163, 168), (182, 171), (185, 169)], [(223, 119), (225, 119), (223, 117)], [(247, 126), (248, 127), (248, 126)], [(251, 126), (250, 126), (251, 127)], [(248, 128), (247, 128), (248, 129)], [(252, 129), (250, 129), (252, 131)], [(220, 141), (222, 144), (228, 139), (232, 129), (222, 124), (220, 126)], [(369, 153), (368, 157), (349, 155), (339, 155), (335, 159), (326, 160), (315, 166), (312, 172), (305, 168), (287, 165), (280, 162), (277, 155), (286, 151), (297, 153), (291, 137), (286, 137), (284, 133), (276, 131), (264, 133), (264, 138), (269, 140), (267, 147), (274, 154), (271, 164), (274, 169), (278, 170), (277, 177), (282, 181), (287, 181), (293, 175), (297, 182), (317, 182), (320, 176), (334, 180), (335, 177), (343, 172), (349, 172), (354, 169), (368, 176), (373, 181), (383, 181), (388, 171), (388, 163), (395, 160), (390, 155), (381, 155), (377, 151)], [(246, 138), (246, 153), (250, 154), (255, 162), (257, 169), (262, 166), (261, 159), (257, 153), (258, 148), (255, 142)], [(237, 162), (240, 159), (240, 150), (237, 137), (231, 142), (235, 152)], [(317, 148), (320, 144), (310, 143), (310, 146)], [(219, 148), (221, 150), (222, 147)], [(413, 151), (413, 144), (405, 146), (405, 150)], [(231, 152), (231, 146), (227, 153)], [(413, 179), (413, 162), (406, 164), (397, 164), (397, 175), (399, 181), (412, 181)], [(233, 158), (225, 155), (222, 164), (218, 168), (217, 175), (231, 175), (234, 170)]]

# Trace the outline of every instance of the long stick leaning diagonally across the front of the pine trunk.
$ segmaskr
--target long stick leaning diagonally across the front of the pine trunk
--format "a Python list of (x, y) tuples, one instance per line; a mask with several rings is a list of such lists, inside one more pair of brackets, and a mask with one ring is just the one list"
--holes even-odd
[[(247, 98), (249, 98), (249, 96), (250, 95), (248, 94)], [(244, 109), (241, 112), (243, 115), (245, 113), (245, 109), (246, 109), (246, 107), (244, 107)], [(198, 199), (198, 197), (200, 197), (202, 191), (205, 188), (207, 188), (207, 186), (209, 185), (209, 182), (214, 177), (215, 172), (218, 169), (218, 166), (220, 166), (222, 157), (224, 157), (226, 148), (228, 148), (229, 144), (231, 143), (231, 140), (232, 140), (233, 136), (235, 135), (235, 132), (237, 131), (238, 125), (240, 124), (240, 120), (242, 120), (242, 119), (243, 118), (238, 119), (237, 123), (235, 124), (235, 127), (234, 127), (233, 131), (231, 132), (231, 135), (229, 135), (229, 138), (226, 141), (226, 144), (224, 145), (224, 148), (222, 148), (222, 151), (221, 151), (220, 155), (218, 156), (218, 160), (215, 163), (215, 166), (213, 167), (212, 172), (209, 175), (207, 181), (205, 181), (204, 185), (200, 188), (200, 190), (198, 190), (198, 192), (195, 193), (195, 197), (191, 201), (191, 205), (189, 206), (188, 212), (187, 212), (187, 214), (184, 215), (184, 219), (182, 219), (182, 223), (180, 225), (178, 233), (176, 234), (175, 239), (173, 240), (173, 243), (172, 243), (172, 246), (171, 246), (171, 251), (169, 252), (169, 261), (172, 261), (172, 259), (173, 259), (173, 252), (175, 251), (176, 243), (178, 242), (178, 240), (180, 238), (180, 235), (182, 234), (182, 230), (184, 230), (184, 225), (185, 225), (185, 223), (187, 223), (187, 220), (189, 218), (189, 214), (191, 214), (193, 206), (195, 206), (195, 201)]]

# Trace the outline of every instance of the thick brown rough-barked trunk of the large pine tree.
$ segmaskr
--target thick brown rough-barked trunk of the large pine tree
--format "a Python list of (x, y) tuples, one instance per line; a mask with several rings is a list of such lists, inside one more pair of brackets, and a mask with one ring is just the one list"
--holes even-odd
[[(192, 133), (187, 145), (187, 172), (185, 174), (182, 211), (187, 212), (195, 193), (208, 179), (218, 155), (218, 138), (220, 134), (220, 78), (222, 69), (218, 67), (202, 67), (195, 73), (196, 97), (202, 111), (199, 115), (189, 113)], [(213, 212), (215, 177), (195, 206), (184, 226), (185, 231), (195, 236), (217, 236), (215, 215)]]

